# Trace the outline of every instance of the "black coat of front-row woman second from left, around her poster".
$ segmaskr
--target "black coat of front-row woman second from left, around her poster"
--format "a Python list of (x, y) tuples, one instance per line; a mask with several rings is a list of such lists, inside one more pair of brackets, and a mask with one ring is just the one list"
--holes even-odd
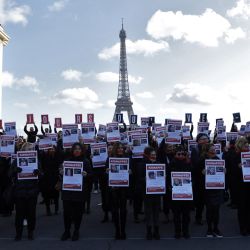
[(62, 200), (66, 201), (77, 201), (84, 202), (86, 201), (89, 193), (89, 183), (92, 182), (93, 169), (90, 165), (90, 162), (83, 157), (71, 157), (67, 161), (78, 161), (83, 162), (83, 171), (87, 172), (87, 176), (82, 178), (82, 191), (68, 191), (62, 190)]

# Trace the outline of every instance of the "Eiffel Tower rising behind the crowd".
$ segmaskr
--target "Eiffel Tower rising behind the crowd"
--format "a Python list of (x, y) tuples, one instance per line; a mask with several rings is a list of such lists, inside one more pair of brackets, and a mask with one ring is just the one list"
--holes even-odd
[(122, 111), (128, 113), (128, 120), (130, 123), (130, 116), (134, 114), (133, 103), (130, 99), (129, 83), (128, 83), (128, 69), (127, 69), (127, 53), (126, 53), (126, 31), (122, 29), (120, 31), (120, 71), (119, 71), (119, 86), (118, 96), (115, 103), (115, 113), (113, 121), (116, 120), (116, 114), (120, 114)]

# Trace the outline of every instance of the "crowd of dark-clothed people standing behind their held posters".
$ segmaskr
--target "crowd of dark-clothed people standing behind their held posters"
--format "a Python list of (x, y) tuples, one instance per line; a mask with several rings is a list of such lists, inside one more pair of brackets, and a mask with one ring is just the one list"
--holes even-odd
[[(129, 129), (123, 126), (124, 131)], [(16, 151), (37, 150), (39, 167), (34, 170), (37, 179), (19, 180), (16, 160), (11, 162), (9, 157), (0, 157), (0, 213), (11, 216), (15, 211), (15, 240), (20, 241), (23, 236), (24, 222), (27, 221), (28, 239), (34, 239), (36, 227), (36, 210), (38, 196), (41, 195), (47, 216), (59, 211), (59, 199), (63, 206), (64, 232), (61, 240), (79, 239), (83, 213), (90, 212), (91, 192), (99, 185), (103, 210), (102, 223), (112, 220), (114, 224), (114, 238), (125, 240), (127, 221), (127, 202), (133, 203), (134, 222), (145, 221), (145, 238), (147, 240), (160, 239), (159, 215), (163, 211), (166, 221), (170, 213), (173, 214), (174, 237), (190, 238), (190, 214), (195, 213), (195, 223), (203, 225), (204, 214), (207, 224), (207, 237), (223, 237), (220, 231), (221, 205), (228, 201), (229, 206), (238, 211), (239, 233), (250, 235), (250, 183), (243, 181), (241, 153), (249, 151), (249, 138), (240, 136), (237, 140), (218, 141), (216, 133), (210, 138), (207, 133), (196, 136), (197, 146), (188, 152), (187, 141), (182, 140), (179, 145), (166, 143), (163, 138), (157, 143), (152, 136), (151, 128), (147, 129), (149, 145), (144, 149), (143, 158), (132, 157), (131, 147), (122, 142), (107, 143), (108, 159), (105, 167), (93, 168), (90, 145), (81, 141), (73, 144), (71, 149), (63, 148), (62, 132), (57, 133), (57, 146), (48, 150), (36, 147), (38, 128), (36, 125), (29, 130), (24, 128), (27, 138), (16, 138)], [(232, 126), (236, 132), (236, 125)], [(43, 129), (40, 138), (51, 133), (51, 128)], [(96, 138), (98, 141), (98, 137)], [(103, 140), (102, 140), (103, 142)], [(205, 160), (218, 159), (214, 144), (220, 143), (222, 159), (226, 166), (225, 189), (205, 188)], [(109, 158), (129, 158), (129, 187), (110, 187), (108, 176), (110, 171)], [(62, 189), (64, 161), (83, 163), (83, 188), (80, 192)], [(165, 164), (166, 193), (146, 194), (146, 164)], [(172, 200), (171, 172), (191, 172), (193, 201)], [(53, 202), (51, 202), (53, 201)], [(51, 203), (54, 204), (52, 210)], [(144, 214), (144, 216), (142, 216)]]

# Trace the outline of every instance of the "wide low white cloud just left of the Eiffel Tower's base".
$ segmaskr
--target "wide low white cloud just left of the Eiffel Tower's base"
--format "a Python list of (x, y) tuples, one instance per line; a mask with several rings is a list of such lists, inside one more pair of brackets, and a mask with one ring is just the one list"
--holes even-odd
[(98, 95), (88, 87), (68, 88), (56, 93), (50, 104), (67, 104), (84, 109), (97, 109), (103, 106)]

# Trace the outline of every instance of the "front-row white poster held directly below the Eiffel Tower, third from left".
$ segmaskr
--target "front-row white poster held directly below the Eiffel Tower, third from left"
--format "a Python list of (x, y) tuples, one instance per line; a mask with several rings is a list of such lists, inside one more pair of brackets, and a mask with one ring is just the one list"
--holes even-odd
[(109, 186), (129, 186), (129, 158), (109, 158)]

